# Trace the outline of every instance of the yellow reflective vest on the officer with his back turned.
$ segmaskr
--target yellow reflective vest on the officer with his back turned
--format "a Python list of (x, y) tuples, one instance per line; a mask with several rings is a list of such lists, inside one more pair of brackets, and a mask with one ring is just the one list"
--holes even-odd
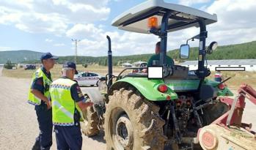
[[(82, 113), (76, 102), (71, 96), (70, 88), (76, 84), (75, 81), (68, 78), (59, 78), (54, 80), (50, 86), (52, 118), (53, 124), (59, 126), (73, 126), (75, 124), (74, 114), (78, 110), (80, 116)], [(83, 121), (80, 118), (80, 121)]]

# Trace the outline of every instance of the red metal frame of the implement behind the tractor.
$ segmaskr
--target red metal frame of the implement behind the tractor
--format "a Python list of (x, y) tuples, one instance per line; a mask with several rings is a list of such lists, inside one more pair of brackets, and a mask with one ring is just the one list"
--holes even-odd
[[(219, 124), (222, 127), (238, 126), (244, 127), (246, 130), (249, 130), (252, 127), (252, 124), (244, 124), (241, 122), (243, 111), (245, 108), (245, 98), (250, 100), (253, 104), (256, 105), (256, 91), (252, 89), (252, 86), (242, 84), (238, 89), (238, 96), (235, 99), (230, 99), (228, 97), (221, 97), (220, 101), (226, 103), (230, 106), (230, 110), (227, 113), (224, 113), (219, 119), (213, 121), (211, 124)], [(249, 130), (255, 135), (255, 132)]]

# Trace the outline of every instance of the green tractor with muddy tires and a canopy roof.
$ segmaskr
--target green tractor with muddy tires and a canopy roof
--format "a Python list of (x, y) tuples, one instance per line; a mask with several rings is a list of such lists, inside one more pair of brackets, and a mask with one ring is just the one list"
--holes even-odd
[[(86, 121), (81, 126), (84, 134), (97, 135), (103, 127), (108, 150), (160, 150), (168, 146), (177, 150), (193, 149), (199, 143), (198, 130), (229, 109), (219, 102), (219, 97), (233, 96), (223, 82), (206, 79), (211, 75), (205, 65), (206, 55), (212, 53), (217, 44), (212, 42), (205, 48), (206, 25), (216, 21), (216, 15), (161, 0), (145, 1), (115, 18), (112, 26), (119, 29), (158, 36), (160, 59), (155, 61), (155, 66), (147, 67), (148, 73), (124, 74), (125, 70), (145, 69), (132, 67), (115, 76), (111, 40), (107, 37), (109, 72), (101, 79), (106, 80), (106, 92), (83, 91), (95, 103), (84, 113)], [(200, 28), (200, 34), (189, 39), (199, 40), (198, 69), (169, 66), (167, 34), (192, 26)], [(180, 59), (188, 58), (187, 42), (180, 46)]]

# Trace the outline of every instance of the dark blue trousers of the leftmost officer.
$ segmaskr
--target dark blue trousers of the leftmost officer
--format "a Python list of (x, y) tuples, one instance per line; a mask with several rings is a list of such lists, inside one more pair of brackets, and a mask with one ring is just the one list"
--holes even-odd
[(47, 109), (47, 105), (41, 104), (34, 107), (37, 113), (37, 121), (39, 124), (39, 136), (32, 150), (49, 150), (52, 145), (52, 113), (51, 109)]

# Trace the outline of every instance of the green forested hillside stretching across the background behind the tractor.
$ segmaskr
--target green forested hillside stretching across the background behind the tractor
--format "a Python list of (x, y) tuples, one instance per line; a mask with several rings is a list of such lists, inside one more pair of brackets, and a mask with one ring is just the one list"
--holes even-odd
[[(147, 61), (153, 54), (142, 54), (132, 56), (114, 56), (113, 64), (122, 64), (124, 62)], [(179, 50), (169, 50), (167, 55), (172, 59), (181, 61), (179, 59)], [(198, 48), (191, 48), (189, 60), (197, 60)], [(73, 56), (65, 56), (59, 58), (59, 63), (69, 60), (73, 61)], [(238, 45), (219, 46), (211, 55), (207, 56), (208, 60), (222, 60), (222, 59), (256, 59), (256, 41), (246, 42)], [(78, 56), (78, 64), (95, 63), (106, 65), (107, 57), (89, 57)]]

